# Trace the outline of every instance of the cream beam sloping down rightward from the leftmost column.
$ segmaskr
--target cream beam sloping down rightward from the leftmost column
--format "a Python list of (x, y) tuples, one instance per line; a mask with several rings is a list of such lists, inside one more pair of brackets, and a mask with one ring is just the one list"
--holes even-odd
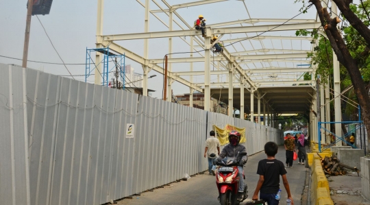
[[(149, 63), (148, 60), (145, 60), (145, 58), (138, 56), (138, 54), (130, 50), (127, 50), (124, 47), (117, 45), (116, 43), (109, 44), (108, 42), (106, 42), (106, 44), (104, 44), (103, 42), (104, 47), (107, 47), (108, 45), (109, 45), (109, 49), (111, 49), (112, 51), (116, 51), (117, 53), (121, 53), (121, 54), (124, 53), (126, 58), (134, 60), (135, 62), (138, 62), (142, 65), (147, 65), (147, 67), (153, 69), (154, 71), (157, 71), (158, 73), (163, 74), (164, 69), (162, 67), (159, 67), (156, 64)], [(190, 82), (188, 82), (188, 80), (185, 80), (182, 77), (173, 76), (172, 73), (169, 73), (169, 77), (171, 77), (171, 79), (173, 80), (176, 80), (177, 82), (180, 82), (181, 84), (184, 84), (185, 86), (193, 88), (195, 91), (203, 92), (203, 89), (191, 84)]]

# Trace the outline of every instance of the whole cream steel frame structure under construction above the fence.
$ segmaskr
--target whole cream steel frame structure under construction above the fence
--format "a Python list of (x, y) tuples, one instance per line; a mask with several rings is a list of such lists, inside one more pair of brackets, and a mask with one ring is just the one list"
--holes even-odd
[[(224, 43), (236, 43), (240, 40), (258, 40), (262, 45), (262, 49), (254, 49), (254, 50), (245, 50), (245, 51), (236, 51), (230, 52), (226, 48), (224, 48), (222, 53), (219, 53), (217, 56), (214, 56), (214, 60), (212, 59), (211, 62), (211, 48), (212, 44), (210, 43), (210, 39), (213, 35), (219, 35), (219, 39), (224, 34), (251, 34), (251, 33), (261, 33), (261, 32), (273, 32), (276, 31), (292, 31), (297, 29), (317, 29), (321, 26), (321, 23), (318, 22), (317, 19), (252, 19), (249, 16), (249, 12), (247, 9), (247, 5), (244, 1), (243, 4), (245, 5), (245, 9), (249, 16), (249, 19), (242, 19), (238, 21), (229, 21), (229, 22), (222, 22), (222, 23), (215, 23), (206, 27), (206, 37), (200, 38), (201, 32), (199, 30), (193, 29), (191, 25), (189, 25), (183, 18), (176, 12), (181, 8), (189, 8), (192, 6), (197, 5), (204, 5), (209, 3), (217, 3), (221, 1), (227, 0), (202, 0), (202, 1), (194, 1), (188, 3), (181, 3), (177, 5), (170, 5), (167, 3), (166, 0), (162, 0), (162, 3), (167, 8), (163, 8), (161, 4), (159, 4), (158, 0), (145, 0), (145, 3), (142, 3), (140, 0), (136, 0), (140, 5), (145, 8), (145, 31), (143, 33), (136, 33), (136, 34), (112, 34), (112, 35), (103, 35), (102, 27), (103, 27), (103, 1), (98, 0), (98, 10), (97, 10), (97, 38), (96, 38), (96, 45), (97, 48), (101, 47), (110, 47), (112, 51), (116, 53), (125, 53), (125, 57), (135, 62), (138, 62), (143, 66), (143, 93), (144, 95), (147, 94), (147, 79), (149, 71), (157, 71), (158, 73), (163, 73), (164, 68), (160, 67), (158, 64), (162, 64), (162, 59), (149, 59), (148, 58), (148, 40), (150, 38), (168, 38), (169, 39), (169, 53), (172, 53), (172, 38), (180, 38), (184, 40), (186, 44), (190, 47), (190, 52), (201, 52), (199, 53), (202, 57), (194, 57), (193, 53), (190, 53), (189, 58), (173, 58), (171, 54), (169, 54), (169, 69), (168, 69), (168, 93), (167, 99), (171, 100), (171, 85), (173, 82), (177, 81), (185, 86), (190, 88), (190, 106), (193, 105), (193, 91), (200, 91), (204, 93), (205, 99), (205, 110), (210, 110), (210, 88), (220, 88), (223, 86), (228, 86), (229, 89), (229, 98), (228, 104), (233, 105), (233, 88), (240, 88), (240, 113), (244, 113), (244, 95), (245, 89), (250, 93), (250, 112), (251, 112), (251, 120), (254, 119), (254, 97), (258, 99), (258, 115), (260, 116), (260, 104), (263, 104), (263, 115), (266, 114), (269, 116), (269, 121), (267, 122), (268, 125), (273, 124), (273, 127), (277, 128), (277, 124), (274, 123), (273, 118), (277, 117), (277, 111), (275, 110), (273, 104), (271, 103), (271, 99), (266, 99), (264, 95), (266, 93), (260, 93), (258, 90), (261, 86), (276, 86), (276, 85), (292, 85), (292, 84), (308, 84), (315, 90), (315, 84), (313, 77), (312, 80), (293, 80), (291, 77), (287, 77), (285, 80), (271, 80), (266, 79), (266, 76), (277, 76), (277, 75), (286, 75), (289, 76), (288, 73), (305, 73), (305, 72), (314, 72), (316, 71), (315, 67), (300, 67), (300, 68), (289, 68), (289, 67), (273, 67), (271, 62), (300, 62), (301, 64), (310, 64), (310, 60), (306, 59), (306, 50), (297, 50), (297, 49), (266, 49), (262, 43), (262, 40), (266, 39), (278, 39), (278, 40), (306, 40), (311, 41), (312, 38), (305, 37), (305, 36), (268, 36), (268, 35), (256, 35), (254, 37), (245, 37), (245, 38), (234, 38), (229, 40), (223, 40)], [(144, 0), (143, 0), (144, 1)], [(159, 9), (150, 10), (149, 4), (155, 3)], [(190, 0), (189, 0), (190, 1)], [(162, 13), (169, 16), (169, 22), (166, 23), (162, 21), (157, 13)], [(153, 15), (158, 21), (163, 23), (166, 27), (169, 28), (168, 31), (162, 32), (149, 32), (149, 16)], [(173, 19), (174, 15), (180, 21)], [(289, 20), (289, 21), (288, 21)], [(256, 23), (271, 23), (267, 25), (255, 25)], [(173, 30), (173, 23), (178, 25), (181, 29), (180, 30)], [(250, 26), (243, 26), (242, 24), (249, 24)], [(233, 25), (232, 27), (229, 27)], [(241, 25), (241, 26), (235, 26)], [(190, 42), (186, 41), (184, 36), (190, 36)], [(144, 55), (139, 56), (138, 54), (122, 47), (118, 43), (119, 40), (134, 40), (134, 39), (144, 39)], [(292, 41), (291, 41), (292, 42)], [(232, 45), (234, 47), (234, 45)], [(242, 45), (243, 46), (243, 45)], [(312, 47), (313, 48), (313, 47)], [(203, 51), (199, 50), (203, 49)], [(235, 49), (235, 47), (234, 47)], [(312, 51), (312, 49), (311, 49)], [(251, 53), (256, 53), (252, 55)], [(263, 53), (263, 54), (262, 54)], [(101, 56), (97, 54), (96, 61), (100, 62)], [(189, 71), (172, 71), (171, 64), (172, 63), (180, 63), (180, 62), (187, 62), (190, 64)], [(193, 71), (193, 63), (194, 62), (204, 62), (204, 71)], [(262, 68), (258, 69), (245, 69), (242, 65), (248, 64), (255, 64), (261, 63)], [(213, 64), (214, 67), (217, 67), (217, 71), (210, 71), (210, 65)], [(270, 67), (263, 67), (263, 64), (270, 64)], [(100, 68), (97, 68), (97, 71)], [(184, 79), (182, 76), (188, 75), (190, 80)], [(195, 83), (193, 82), (193, 75), (204, 75), (204, 83)], [(217, 82), (211, 82), (210, 76), (217, 75)], [(225, 81), (220, 82), (219, 75), (228, 75)], [(98, 75), (95, 75), (98, 76)], [(222, 78), (221, 78), (222, 80)], [(100, 84), (99, 79), (95, 78), (95, 83)], [(334, 80), (335, 83), (335, 80)], [(306, 105), (308, 108), (314, 110), (317, 106), (317, 100), (315, 99), (316, 96), (314, 93), (308, 93), (312, 98), (308, 99)], [(232, 114), (232, 106), (229, 106), (229, 113)], [(338, 109), (336, 109), (338, 110)], [(340, 109), (339, 109), (340, 110)], [(340, 115), (339, 115), (340, 116)], [(243, 114), (240, 114), (240, 117), (243, 117)], [(258, 117), (260, 119), (260, 117)], [(259, 121), (259, 120), (258, 120)], [(314, 121), (314, 117), (310, 114), (310, 121), (311, 125), (316, 124), (317, 120)], [(313, 129), (313, 128), (312, 128)], [(310, 130), (312, 133), (315, 133), (316, 130)]]

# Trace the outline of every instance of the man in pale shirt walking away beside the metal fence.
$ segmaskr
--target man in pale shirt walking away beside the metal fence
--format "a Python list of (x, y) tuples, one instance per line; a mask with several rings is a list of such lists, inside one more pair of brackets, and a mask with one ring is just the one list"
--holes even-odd
[(216, 169), (216, 166), (213, 165), (213, 160), (217, 158), (217, 156), (214, 156), (213, 158), (210, 157), (210, 154), (214, 153), (217, 155), (220, 154), (220, 141), (218, 138), (214, 137), (214, 131), (212, 130), (210, 132), (210, 137), (206, 140), (206, 149), (204, 149), (204, 157), (208, 156), (208, 171), (210, 172), (210, 175), (212, 174), (215, 176), (214, 170)]

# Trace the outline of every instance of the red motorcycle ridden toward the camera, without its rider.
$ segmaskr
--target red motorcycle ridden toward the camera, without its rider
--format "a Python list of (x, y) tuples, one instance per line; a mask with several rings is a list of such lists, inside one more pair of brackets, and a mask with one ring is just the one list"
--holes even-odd
[[(212, 155), (212, 154), (211, 154)], [(247, 155), (246, 152), (240, 153), (240, 155)], [(221, 205), (238, 205), (240, 202), (243, 202), (247, 199), (248, 191), (247, 184), (244, 187), (243, 200), (238, 201), (236, 197), (238, 195), (238, 184), (239, 180), (244, 180), (244, 171), (243, 179), (240, 179), (238, 176), (238, 165), (239, 162), (234, 158), (224, 158), (216, 162), (216, 165), (219, 167), (216, 170), (216, 184), (219, 189), (219, 200)]]

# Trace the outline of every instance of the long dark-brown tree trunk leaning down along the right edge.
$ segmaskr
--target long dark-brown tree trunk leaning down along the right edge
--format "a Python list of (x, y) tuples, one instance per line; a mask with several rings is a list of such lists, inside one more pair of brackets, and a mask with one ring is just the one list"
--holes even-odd
[[(347, 46), (344, 43), (344, 40), (336, 28), (336, 24), (339, 23), (338, 18), (330, 18), (328, 10), (321, 6), (320, 0), (310, 0), (311, 3), (317, 9), (321, 24), (325, 29), (325, 34), (328, 36), (330, 45), (338, 57), (338, 61), (343, 64), (351, 77), (351, 82), (354, 85), (354, 91), (358, 98), (358, 102), (361, 106), (362, 117), (364, 118), (364, 123), (370, 132), (370, 97), (367, 95), (365, 90), (365, 83), (362, 80), (360, 70), (358, 69), (356, 61), (352, 58), (349, 53)], [(339, 6), (338, 6), (339, 7)], [(349, 20), (349, 19), (348, 19)], [(356, 27), (355, 27), (356, 28)], [(361, 33), (360, 33), (361, 34)], [(362, 34), (361, 34), (362, 36)], [(363, 36), (365, 38), (365, 36)], [(370, 134), (367, 136), (367, 140), (370, 141)]]

